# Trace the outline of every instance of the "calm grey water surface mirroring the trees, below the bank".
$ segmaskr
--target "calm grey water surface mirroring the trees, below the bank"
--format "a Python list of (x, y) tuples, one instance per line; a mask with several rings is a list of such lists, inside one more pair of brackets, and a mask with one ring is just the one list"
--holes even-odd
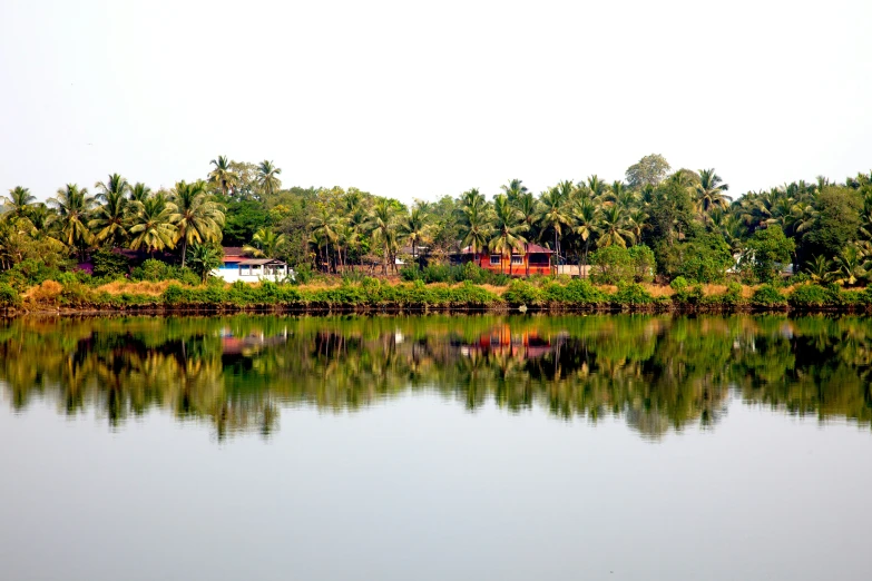
[(0, 579), (869, 579), (872, 319), (0, 323)]

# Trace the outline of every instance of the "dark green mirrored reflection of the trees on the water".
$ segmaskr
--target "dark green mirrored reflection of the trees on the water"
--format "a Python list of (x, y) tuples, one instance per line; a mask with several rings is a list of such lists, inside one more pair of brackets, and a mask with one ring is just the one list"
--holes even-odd
[(111, 427), (160, 408), (218, 437), (267, 435), (280, 408), (357, 410), (435, 391), (476, 410), (617, 415), (645, 436), (715, 427), (739, 397), (872, 425), (872, 321), (861, 317), (430, 316), (18, 318), (0, 382)]

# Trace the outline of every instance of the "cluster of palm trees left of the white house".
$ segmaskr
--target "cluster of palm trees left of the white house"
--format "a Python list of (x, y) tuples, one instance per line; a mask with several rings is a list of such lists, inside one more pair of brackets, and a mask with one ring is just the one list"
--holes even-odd
[(221, 240), (224, 208), (206, 181), (179, 181), (169, 191), (151, 191), (112, 174), (95, 188), (91, 195), (68, 184), (45, 205), (27, 188), (16, 187), (3, 199), (7, 217), (19, 229), (47, 234), (79, 254), (102, 245), (151, 254), (178, 246), (183, 266), (188, 245)]

